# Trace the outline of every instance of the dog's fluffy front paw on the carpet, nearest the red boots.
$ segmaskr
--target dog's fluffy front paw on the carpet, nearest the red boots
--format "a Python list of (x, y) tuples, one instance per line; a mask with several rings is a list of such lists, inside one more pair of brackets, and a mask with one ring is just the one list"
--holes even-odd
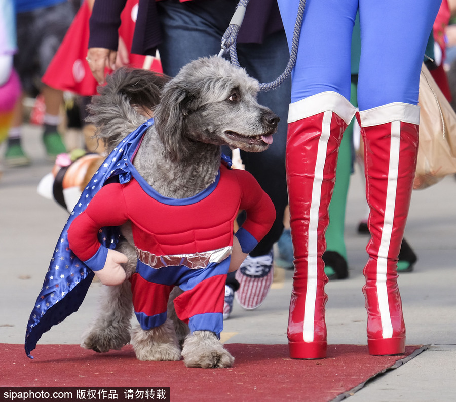
[(182, 356), (185, 366), (203, 369), (232, 367), (234, 357), (210, 331), (195, 331), (185, 339)]

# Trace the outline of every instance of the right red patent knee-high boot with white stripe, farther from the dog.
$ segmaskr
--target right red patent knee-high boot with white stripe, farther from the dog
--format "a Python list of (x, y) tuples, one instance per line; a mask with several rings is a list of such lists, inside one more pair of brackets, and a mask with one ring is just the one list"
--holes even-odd
[(367, 342), (372, 355), (405, 351), (405, 325), (397, 286), (397, 258), (410, 206), (420, 108), (390, 103), (357, 115), (364, 139), (371, 239), (363, 288)]

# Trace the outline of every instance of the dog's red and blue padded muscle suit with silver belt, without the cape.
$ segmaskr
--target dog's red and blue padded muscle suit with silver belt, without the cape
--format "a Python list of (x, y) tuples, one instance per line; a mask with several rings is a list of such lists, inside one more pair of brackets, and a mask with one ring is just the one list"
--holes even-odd
[(130, 221), (136, 254), (131, 279), (133, 304), (143, 329), (164, 323), (174, 285), (184, 291), (175, 302), (191, 331), (220, 334), (223, 298), (239, 210), (247, 221), (237, 237), (251, 251), (270, 229), (271, 201), (253, 176), (221, 165), (216, 181), (194, 197), (166, 198), (138, 174), (128, 183), (111, 183), (93, 198), (68, 231), (71, 250), (92, 270), (103, 268), (107, 248), (98, 230)]

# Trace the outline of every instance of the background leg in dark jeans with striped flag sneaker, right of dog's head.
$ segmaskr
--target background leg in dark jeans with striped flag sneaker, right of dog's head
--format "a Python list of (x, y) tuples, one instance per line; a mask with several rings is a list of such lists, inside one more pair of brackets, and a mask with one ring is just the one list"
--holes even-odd
[[(269, 83), (279, 77), (289, 59), (284, 31), (267, 36), (262, 44), (238, 44), (237, 49), (239, 63), (260, 83)], [(246, 310), (254, 310), (261, 305), (273, 282), (273, 245), (282, 234), (283, 216), (288, 204), (285, 147), (290, 94), (290, 79), (273, 90), (258, 94), (259, 103), (268, 106), (280, 117), (278, 130), (273, 136), (273, 144), (264, 152), (241, 151), (245, 169), (253, 174), (276, 208), (273, 227), (236, 272), (240, 288), (235, 297)]]

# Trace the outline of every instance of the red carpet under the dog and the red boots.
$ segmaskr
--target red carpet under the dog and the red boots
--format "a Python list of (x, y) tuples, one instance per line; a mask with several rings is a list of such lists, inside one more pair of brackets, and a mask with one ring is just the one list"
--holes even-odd
[(171, 400), (341, 400), (368, 379), (426, 350), (407, 346), (402, 356), (370, 356), (367, 346), (328, 345), (321, 360), (293, 360), (287, 345), (226, 344), (231, 369), (188, 369), (182, 361), (138, 361), (131, 346), (98, 354), (78, 345), (38, 345), (29, 359), (23, 345), (0, 344), (0, 386), (171, 387)]

